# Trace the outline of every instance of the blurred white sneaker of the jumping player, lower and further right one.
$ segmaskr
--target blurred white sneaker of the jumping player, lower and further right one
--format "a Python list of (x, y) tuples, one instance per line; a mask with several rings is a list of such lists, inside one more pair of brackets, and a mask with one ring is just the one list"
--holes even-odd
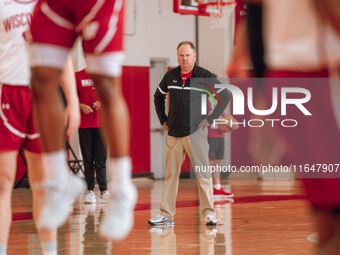
[(137, 196), (137, 189), (133, 183), (110, 189), (108, 213), (100, 224), (100, 234), (104, 238), (120, 240), (129, 234), (133, 227), (133, 210)]

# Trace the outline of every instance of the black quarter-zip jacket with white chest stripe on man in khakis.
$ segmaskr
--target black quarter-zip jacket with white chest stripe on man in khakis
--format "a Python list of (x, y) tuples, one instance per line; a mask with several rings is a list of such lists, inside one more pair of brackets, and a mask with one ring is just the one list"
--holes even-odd
[[(194, 78), (204, 78), (197, 80)], [(195, 82), (191, 82), (191, 81)], [(198, 82), (197, 82), (198, 81)], [(223, 113), (230, 100), (230, 93), (227, 89), (218, 90), (222, 105), (216, 100), (213, 113), (210, 116), (201, 114), (201, 95), (206, 94), (202, 88), (207, 89), (207, 84), (215, 88), (215, 84), (220, 84), (216, 76), (208, 70), (195, 64), (192, 75), (182, 83), (180, 66), (169, 70), (164, 75), (154, 94), (156, 112), (161, 125), (165, 122), (169, 128), (168, 135), (174, 137), (184, 137), (193, 134), (203, 119), (207, 119), (209, 124), (213, 123)], [(165, 114), (165, 98), (169, 94), (170, 106), (168, 116)], [(216, 96), (215, 96), (216, 97)], [(206, 106), (207, 107), (207, 106)]]

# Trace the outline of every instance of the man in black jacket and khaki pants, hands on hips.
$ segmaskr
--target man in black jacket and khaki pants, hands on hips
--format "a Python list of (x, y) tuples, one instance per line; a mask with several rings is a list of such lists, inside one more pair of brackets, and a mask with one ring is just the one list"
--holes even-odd
[[(207, 126), (212, 124), (226, 108), (230, 94), (219, 87), (214, 74), (196, 65), (195, 46), (180, 42), (177, 47), (179, 66), (168, 71), (154, 100), (161, 125), (168, 132), (166, 147), (166, 178), (160, 205), (160, 215), (149, 220), (150, 225), (173, 224), (181, 166), (187, 153), (197, 175), (198, 195), (202, 215), (207, 225), (217, 225), (213, 209), (213, 185), (209, 166)], [(217, 86), (215, 86), (217, 85)], [(208, 116), (207, 92), (218, 98), (215, 110)], [(210, 93), (211, 92), (211, 93)], [(165, 98), (170, 95), (169, 113), (165, 113)], [(198, 169), (198, 171), (197, 171)]]

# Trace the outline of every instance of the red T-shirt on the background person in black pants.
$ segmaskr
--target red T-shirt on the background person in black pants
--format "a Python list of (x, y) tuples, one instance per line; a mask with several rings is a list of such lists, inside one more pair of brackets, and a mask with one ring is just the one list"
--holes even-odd
[(100, 111), (93, 108), (94, 102), (98, 101), (93, 81), (87, 75), (85, 70), (76, 72), (77, 91), (79, 103), (90, 106), (93, 112), (85, 114), (81, 112), (81, 123), (79, 128), (97, 128), (100, 127)]

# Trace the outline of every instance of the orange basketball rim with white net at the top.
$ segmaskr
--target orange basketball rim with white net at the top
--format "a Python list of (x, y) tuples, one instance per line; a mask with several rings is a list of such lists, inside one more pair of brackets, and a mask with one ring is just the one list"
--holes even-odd
[(198, 2), (198, 10), (209, 13), (211, 28), (226, 28), (230, 24), (230, 16), (235, 10), (236, 2)]

